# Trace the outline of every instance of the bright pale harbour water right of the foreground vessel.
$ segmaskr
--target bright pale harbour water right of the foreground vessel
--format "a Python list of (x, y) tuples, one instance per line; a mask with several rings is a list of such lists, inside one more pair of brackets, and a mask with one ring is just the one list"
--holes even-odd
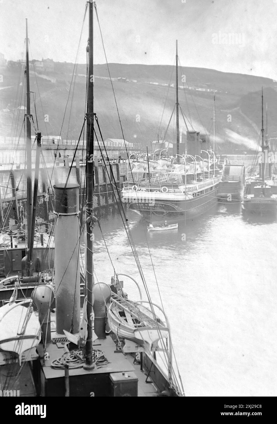
[[(152, 301), (161, 304), (158, 281), (186, 396), (276, 396), (276, 217), (227, 202), (169, 232), (148, 233), (134, 212), (127, 218)], [(114, 270), (97, 227), (96, 282), (108, 282)], [(142, 287), (120, 215), (102, 218), (101, 228), (116, 272)]]

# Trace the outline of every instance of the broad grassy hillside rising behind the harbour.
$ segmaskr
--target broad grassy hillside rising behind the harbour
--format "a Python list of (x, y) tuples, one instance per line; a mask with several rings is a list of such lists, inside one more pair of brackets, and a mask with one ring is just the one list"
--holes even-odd
[[(124, 137), (130, 142), (141, 142), (150, 147), (150, 142), (161, 137), (166, 129), (175, 104), (175, 88), (161, 85), (174, 83), (175, 70), (171, 66), (147, 66), (139, 64), (110, 64), (112, 78), (127, 78), (137, 82), (113, 81), (119, 116)], [(69, 92), (73, 64), (55, 63), (55, 73), (48, 77), (56, 78), (52, 83), (42, 76), (30, 74), (30, 89), (36, 93), (36, 111), (42, 134), (58, 135), (62, 138), (79, 137), (85, 112), (86, 66), (79, 64), (77, 74)], [(172, 72), (173, 71), (173, 72)], [(0, 83), (0, 135), (11, 135), (17, 121), (14, 110), (24, 105), (24, 80), (22, 72), (1, 70), (3, 82)], [(106, 65), (94, 67), (94, 110), (100, 122), (103, 137), (122, 138), (111, 82), (97, 77), (108, 77)], [(275, 110), (277, 109), (277, 91), (274, 82), (268, 78), (223, 73), (211, 69), (179, 68), (179, 85), (181, 75), (186, 75), (190, 87), (209, 88), (216, 92), (216, 143), (221, 153), (239, 153), (255, 149), (257, 131), (261, 126), (261, 87), (264, 87), (264, 112), (266, 125), (266, 102), (268, 103), (269, 135), (277, 131)], [(19, 85), (23, 81), (23, 86)], [(186, 84), (185, 84), (186, 86)], [(6, 88), (5, 88), (6, 87)], [(23, 92), (20, 99), (20, 93)], [(168, 95), (167, 95), (168, 93)], [(193, 95), (192, 95), (193, 94)], [(167, 96), (167, 101), (165, 103)], [(34, 102), (31, 99), (34, 115)], [(191, 121), (194, 129), (213, 132), (213, 93), (180, 89), (179, 102), (183, 113)], [(67, 107), (66, 107), (67, 103)], [(163, 112), (163, 108), (164, 112)], [(3, 111), (4, 109), (4, 111)], [(9, 112), (5, 109), (9, 109)], [(66, 109), (65, 117), (64, 112)], [(163, 114), (163, 120), (161, 117)], [(48, 117), (45, 117), (48, 115)], [(24, 110), (19, 113), (17, 135), (19, 134)], [(45, 117), (45, 118), (44, 118)], [(48, 119), (48, 121), (47, 121)], [(64, 120), (63, 126), (62, 122)], [(46, 122), (45, 122), (46, 121)], [(186, 126), (180, 114), (180, 126), (183, 132)], [(188, 124), (189, 129), (191, 126)], [(167, 139), (175, 137), (173, 119)]]

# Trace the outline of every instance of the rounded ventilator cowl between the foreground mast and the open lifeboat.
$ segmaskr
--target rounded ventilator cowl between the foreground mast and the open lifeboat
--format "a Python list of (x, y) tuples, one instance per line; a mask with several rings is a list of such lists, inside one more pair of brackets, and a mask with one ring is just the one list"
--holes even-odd
[(94, 333), (99, 339), (106, 338), (107, 303), (111, 298), (111, 287), (105, 283), (94, 285)]

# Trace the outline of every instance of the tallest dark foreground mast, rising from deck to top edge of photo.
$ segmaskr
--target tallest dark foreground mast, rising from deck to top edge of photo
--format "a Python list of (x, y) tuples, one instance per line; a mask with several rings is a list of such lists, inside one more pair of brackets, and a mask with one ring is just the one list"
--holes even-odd
[(89, 1), (89, 40), (87, 52), (89, 56), (89, 77), (88, 77), (88, 99), (86, 113), (86, 295), (87, 295), (87, 317), (88, 317), (88, 336), (85, 347), (85, 365), (86, 369), (93, 369), (92, 357), (92, 306), (93, 306), (93, 190), (94, 190), (94, 114), (93, 114), (93, 8), (94, 2)]

